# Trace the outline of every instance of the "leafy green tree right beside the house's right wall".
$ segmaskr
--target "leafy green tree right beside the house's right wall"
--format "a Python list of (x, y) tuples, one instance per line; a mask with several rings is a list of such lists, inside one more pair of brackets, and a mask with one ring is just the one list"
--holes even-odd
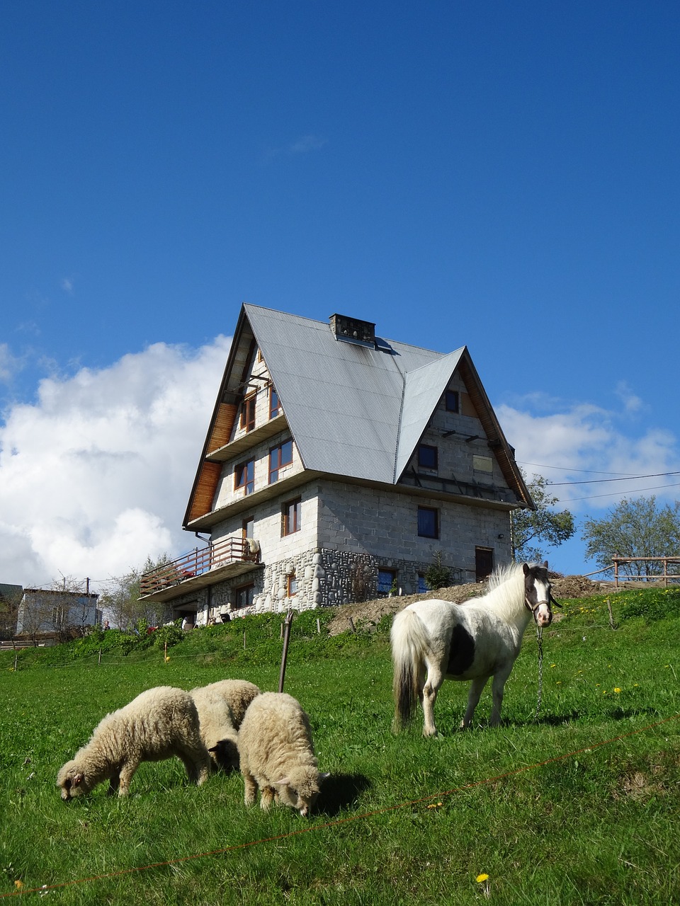
[(510, 514), (512, 557), (517, 563), (540, 563), (547, 559), (545, 546), (557, 547), (574, 534), (574, 516), (568, 510), (552, 508), (559, 500), (549, 493), (548, 478), (540, 475), (534, 475), (530, 481), (524, 478), (536, 509), (514, 510)]

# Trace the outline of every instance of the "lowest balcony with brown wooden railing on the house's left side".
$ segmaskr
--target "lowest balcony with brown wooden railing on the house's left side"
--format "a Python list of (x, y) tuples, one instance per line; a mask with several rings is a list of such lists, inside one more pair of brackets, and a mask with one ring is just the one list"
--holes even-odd
[(248, 573), (260, 562), (259, 547), (251, 538), (222, 538), (214, 545), (197, 547), (177, 560), (143, 573), (140, 597), (171, 601), (223, 579)]

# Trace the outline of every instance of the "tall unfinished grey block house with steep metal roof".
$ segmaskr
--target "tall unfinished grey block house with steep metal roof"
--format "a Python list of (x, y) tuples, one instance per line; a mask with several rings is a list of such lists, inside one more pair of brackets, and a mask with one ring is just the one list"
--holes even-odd
[(374, 323), (244, 304), (183, 527), (198, 544), (146, 573), (172, 617), (304, 610), (425, 591), (511, 556), (534, 508), (470, 352)]

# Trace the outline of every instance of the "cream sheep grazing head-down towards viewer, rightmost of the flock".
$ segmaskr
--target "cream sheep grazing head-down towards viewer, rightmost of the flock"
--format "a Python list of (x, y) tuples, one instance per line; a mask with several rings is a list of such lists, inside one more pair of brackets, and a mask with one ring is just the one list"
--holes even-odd
[(238, 755), (246, 805), (255, 802), (259, 786), (265, 810), (276, 798), (308, 815), (328, 776), (317, 767), (309, 718), (286, 692), (253, 699), (238, 731)]

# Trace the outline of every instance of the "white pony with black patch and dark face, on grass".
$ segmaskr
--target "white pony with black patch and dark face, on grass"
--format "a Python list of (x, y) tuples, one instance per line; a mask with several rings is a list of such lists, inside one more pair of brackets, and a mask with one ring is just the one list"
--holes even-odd
[[(489, 591), (464, 604), (432, 599), (409, 604), (394, 617), (394, 729), (423, 705), (423, 736), (434, 736), (434, 702), (444, 679), (471, 679), (461, 727), (469, 727), (487, 679), (493, 677), (491, 726), (500, 723), (503, 687), (533, 616), (552, 622), (548, 563), (510, 564), (489, 579)], [(557, 603), (557, 602), (555, 602)]]

